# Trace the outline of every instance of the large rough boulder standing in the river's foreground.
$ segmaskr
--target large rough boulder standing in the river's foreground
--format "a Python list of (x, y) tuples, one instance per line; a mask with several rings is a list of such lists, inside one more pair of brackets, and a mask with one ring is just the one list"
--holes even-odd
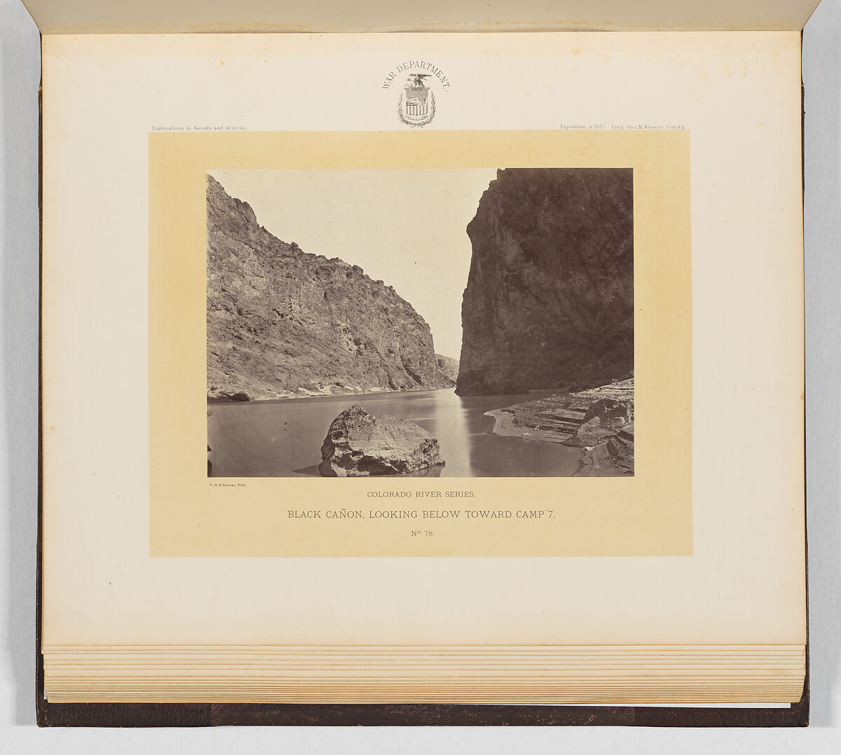
[(419, 425), (400, 417), (373, 417), (353, 404), (327, 430), (319, 472), (322, 477), (368, 477), (443, 463), (438, 441)]

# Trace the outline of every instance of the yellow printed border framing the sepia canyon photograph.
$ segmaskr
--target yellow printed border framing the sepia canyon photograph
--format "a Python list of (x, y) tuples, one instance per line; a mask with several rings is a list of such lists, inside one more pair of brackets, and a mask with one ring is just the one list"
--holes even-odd
[[(152, 556), (691, 555), (688, 131), (159, 132), (149, 150)], [(473, 492), (479, 509), (551, 504), (558, 522), (461, 520), (413, 541), (404, 520), (290, 525), (294, 509), (367, 510), (382, 478), (209, 480), (206, 172), (497, 166), (634, 171), (635, 476), (389, 479), (394, 490)]]

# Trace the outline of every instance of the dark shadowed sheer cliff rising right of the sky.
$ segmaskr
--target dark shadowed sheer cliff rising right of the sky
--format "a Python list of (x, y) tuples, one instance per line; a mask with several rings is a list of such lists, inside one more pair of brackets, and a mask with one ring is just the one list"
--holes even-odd
[(569, 390), (633, 369), (631, 169), (501, 170), (467, 230), (456, 393)]

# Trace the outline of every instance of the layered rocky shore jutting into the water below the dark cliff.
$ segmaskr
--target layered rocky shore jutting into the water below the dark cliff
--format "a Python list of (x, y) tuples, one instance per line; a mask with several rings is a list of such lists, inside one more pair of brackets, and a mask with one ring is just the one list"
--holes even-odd
[(493, 432), (530, 441), (578, 446), (576, 477), (631, 477), (634, 473), (634, 380), (563, 393), (494, 409)]

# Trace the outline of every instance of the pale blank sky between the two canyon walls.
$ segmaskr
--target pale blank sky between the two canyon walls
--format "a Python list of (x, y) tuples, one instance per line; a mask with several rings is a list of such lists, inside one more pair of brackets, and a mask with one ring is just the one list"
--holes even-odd
[(458, 359), (472, 253), (465, 229), (495, 168), (209, 173), (278, 239), (394, 286), (426, 319), (436, 353)]

